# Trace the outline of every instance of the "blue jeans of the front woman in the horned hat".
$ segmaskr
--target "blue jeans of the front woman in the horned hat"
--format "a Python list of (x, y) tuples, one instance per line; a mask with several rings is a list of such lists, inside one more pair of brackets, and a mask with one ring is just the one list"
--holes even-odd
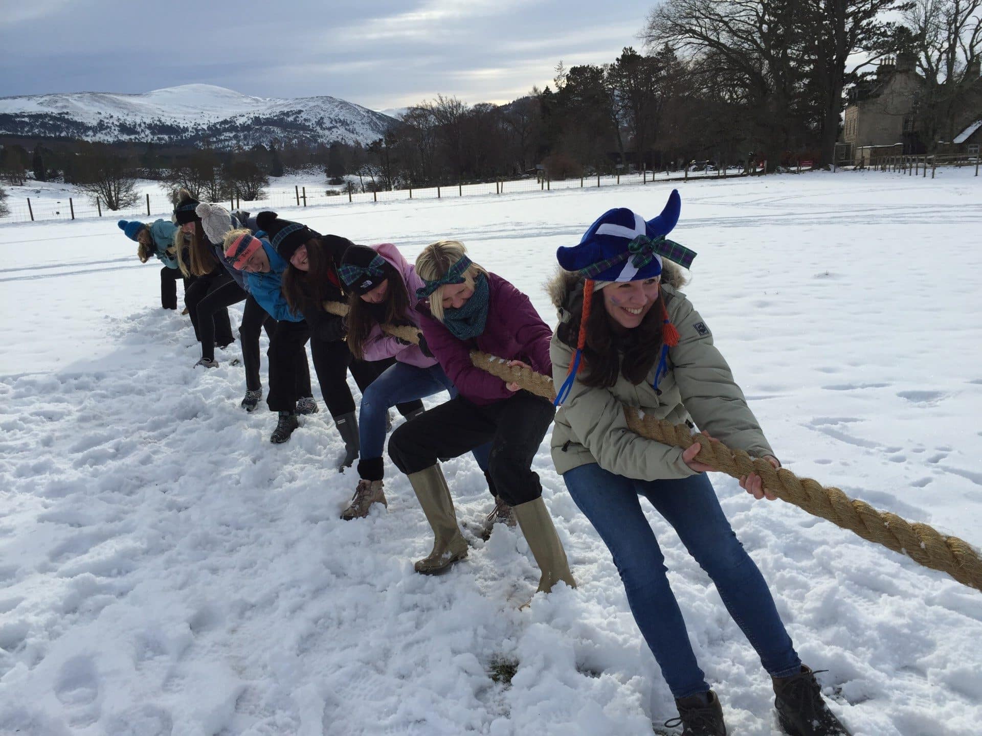
[(695, 661), (682, 611), (665, 574), (665, 557), (644, 518), (639, 496), (651, 501), (675, 527), (764, 668), (775, 677), (800, 671), (801, 660), (767, 583), (736, 539), (704, 473), (680, 480), (638, 481), (590, 463), (565, 473), (563, 480), (614, 557), (630, 612), (673, 696), (704, 693), (709, 684)]

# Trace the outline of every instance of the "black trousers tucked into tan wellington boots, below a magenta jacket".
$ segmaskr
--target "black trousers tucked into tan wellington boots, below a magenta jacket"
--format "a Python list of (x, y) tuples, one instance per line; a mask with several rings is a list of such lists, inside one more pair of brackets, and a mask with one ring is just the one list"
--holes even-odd
[(490, 442), (487, 474), (498, 496), (516, 506), (542, 496), (531, 466), (555, 414), (551, 401), (524, 391), (487, 406), (459, 395), (393, 432), (389, 456), (409, 475)]

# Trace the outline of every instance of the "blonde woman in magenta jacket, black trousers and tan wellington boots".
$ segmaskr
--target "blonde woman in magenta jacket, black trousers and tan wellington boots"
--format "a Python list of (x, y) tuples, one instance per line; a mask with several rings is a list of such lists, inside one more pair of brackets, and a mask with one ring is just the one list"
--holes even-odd
[(548, 400), (475, 368), (469, 356), (483, 350), (549, 375), (552, 331), (525, 294), (472, 263), (456, 240), (427, 246), (416, 258), (416, 275), (424, 285), (417, 296), (428, 298), (416, 307), (425, 346), (459, 392), (400, 427), (389, 441), (389, 454), (409, 476), (435, 536), (433, 551), (415, 563), (416, 571), (439, 572), (467, 553), (437, 459), (490, 442), (492, 490), (513, 507), (542, 573), (538, 590), (548, 592), (559, 581), (573, 586), (566, 552), (531, 469), (556, 410)]

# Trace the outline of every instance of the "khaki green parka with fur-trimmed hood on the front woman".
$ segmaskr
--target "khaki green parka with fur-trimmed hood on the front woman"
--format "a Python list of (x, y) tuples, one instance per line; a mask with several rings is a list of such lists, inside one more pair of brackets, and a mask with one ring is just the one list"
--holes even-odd
[[(681, 448), (662, 445), (627, 429), (624, 404), (674, 424), (694, 423), (717, 440), (746, 450), (751, 456), (774, 454), (736, 385), (730, 366), (713, 345), (712, 333), (678, 290), (682, 283), (679, 271), (666, 263), (661, 289), (669, 318), (681, 338), (678, 345), (669, 348), (669, 372), (658, 383), (661, 394), (652, 387), (655, 366), (643, 384), (631, 384), (619, 374), (612, 388), (584, 386), (579, 377), (588, 368), (580, 368), (573, 390), (556, 414), (552, 434), (552, 457), (560, 474), (595, 462), (612, 473), (644, 481), (694, 475), (682, 461)], [(583, 279), (561, 271), (549, 291), (559, 309), (562, 327), (582, 308)], [(603, 309), (599, 303), (602, 294), (596, 292), (593, 298), (593, 308)], [(550, 343), (557, 388), (566, 381), (575, 352), (575, 336), (570, 338), (573, 344), (569, 344), (559, 337), (565, 333), (557, 329)]]

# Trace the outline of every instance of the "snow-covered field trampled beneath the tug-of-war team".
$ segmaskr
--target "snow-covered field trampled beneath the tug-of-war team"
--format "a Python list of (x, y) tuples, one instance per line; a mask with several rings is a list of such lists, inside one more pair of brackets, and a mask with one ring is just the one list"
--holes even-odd
[[(556, 247), (608, 207), (652, 217), (668, 192), (281, 214), (409, 257), (462, 239), (552, 322)], [(982, 179), (690, 184), (673, 237), (699, 253), (685, 290), (787, 466), (982, 544)], [(0, 733), (642, 736), (675, 715), (548, 442), (535, 467), (579, 587), (519, 611), (537, 572), (507, 528), (416, 575), (430, 532), (405, 478), (387, 464), (388, 510), (341, 521), (355, 477), (331, 469), (323, 405), (271, 446), (270, 413), (239, 408), (238, 347), (193, 370), (191, 325), (135, 251), (112, 219), (0, 227)], [(444, 470), (476, 521), (481, 473)], [(982, 734), (982, 594), (713, 480), (856, 736)], [(731, 732), (779, 733), (753, 650), (650, 519)]]

